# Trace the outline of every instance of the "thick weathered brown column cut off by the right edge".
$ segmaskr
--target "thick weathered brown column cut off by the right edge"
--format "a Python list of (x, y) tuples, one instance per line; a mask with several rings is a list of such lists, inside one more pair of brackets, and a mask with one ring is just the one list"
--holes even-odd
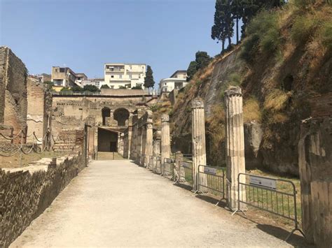
[(331, 247), (332, 117), (302, 123), (298, 154), (303, 231), (317, 247)]

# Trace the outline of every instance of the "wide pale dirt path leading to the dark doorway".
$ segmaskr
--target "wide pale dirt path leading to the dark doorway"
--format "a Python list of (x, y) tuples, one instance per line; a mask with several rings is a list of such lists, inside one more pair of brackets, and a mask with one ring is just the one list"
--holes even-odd
[(93, 161), (11, 247), (287, 247), (130, 161)]

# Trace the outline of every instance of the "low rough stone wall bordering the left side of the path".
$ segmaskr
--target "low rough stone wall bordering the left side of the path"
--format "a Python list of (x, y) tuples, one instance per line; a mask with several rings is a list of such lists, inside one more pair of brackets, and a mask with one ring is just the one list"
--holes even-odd
[(85, 167), (83, 155), (0, 169), (0, 247), (8, 247)]

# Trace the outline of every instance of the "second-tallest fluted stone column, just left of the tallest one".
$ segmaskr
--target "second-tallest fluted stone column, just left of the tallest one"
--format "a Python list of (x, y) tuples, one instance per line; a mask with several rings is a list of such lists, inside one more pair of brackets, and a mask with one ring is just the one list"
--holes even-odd
[[(198, 166), (207, 165), (205, 150), (205, 113), (202, 99), (193, 99), (192, 112), (192, 141), (193, 141), (193, 190), (198, 190)], [(203, 170), (203, 168), (202, 168)], [(206, 180), (205, 177), (201, 178)]]

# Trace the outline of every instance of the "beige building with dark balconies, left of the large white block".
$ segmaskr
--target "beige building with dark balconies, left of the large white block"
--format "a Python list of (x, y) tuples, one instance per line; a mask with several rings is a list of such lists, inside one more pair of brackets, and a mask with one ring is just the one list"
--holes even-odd
[(74, 73), (69, 67), (53, 66), (51, 80), (54, 84), (53, 88), (60, 91), (63, 87), (74, 85), (82, 87), (81, 82), (88, 80), (88, 77), (84, 73)]

